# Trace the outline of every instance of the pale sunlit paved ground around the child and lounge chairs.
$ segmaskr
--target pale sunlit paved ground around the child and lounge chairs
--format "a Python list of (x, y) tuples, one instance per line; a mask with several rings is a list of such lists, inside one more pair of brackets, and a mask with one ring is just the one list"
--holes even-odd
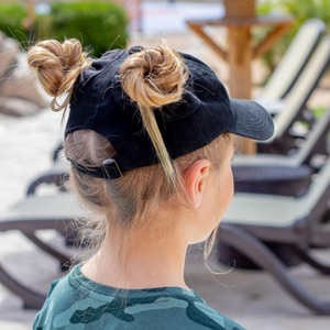
[[(169, 44), (189, 52), (208, 62), (224, 81), (228, 79), (226, 65), (188, 31), (166, 33)], [(162, 32), (162, 36), (164, 36)], [(211, 31), (223, 42), (223, 31)], [(132, 44), (153, 43), (160, 33), (134, 34)], [(254, 66), (255, 80), (261, 79), (263, 69)], [(314, 106), (329, 106), (328, 80), (322, 81), (314, 96)], [(9, 118), (0, 114), (0, 215), (10, 205), (24, 198), (26, 185), (38, 173), (51, 166), (51, 152), (62, 138), (61, 116), (48, 109), (34, 117)], [(43, 187), (41, 194), (50, 194)], [(53, 232), (43, 234), (48, 242), (64, 246), (62, 238)], [(200, 251), (194, 250), (189, 257), (186, 275), (190, 287), (219, 311), (232, 317), (246, 329), (265, 330), (329, 330), (330, 317), (315, 316), (297, 304), (265, 272), (234, 270), (227, 275), (212, 275), (201, 262)], [(330, 258), (329, 251), (318, 256)], [(45, 255), (16, 232), (1, 233), (0, 260), (13, 274), (29, 286), (46, 293), (50, 283), (61, 275), (58, 264)], [(213, 268), (217, 268), (217, 263)], [(226, 270), (226, 266), (221, 266)], [(215, 270), (219, 272), (219, 270)], [(293, 270), (304, 285), (324, 299), (330, 296), (329, 277), (320, 276), (305, 266)], [(35, 310), (24, 310), (19, 298), (0, 285), (0, 329), (31, 329)]]

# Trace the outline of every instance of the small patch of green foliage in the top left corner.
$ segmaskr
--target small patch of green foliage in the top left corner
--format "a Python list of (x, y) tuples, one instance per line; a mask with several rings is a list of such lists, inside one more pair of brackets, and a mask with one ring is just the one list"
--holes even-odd
[(21, 44), (29, 40), (30, 32), (23, 28), (26, 18), (23, 3), (0, 3), (0, 31)]

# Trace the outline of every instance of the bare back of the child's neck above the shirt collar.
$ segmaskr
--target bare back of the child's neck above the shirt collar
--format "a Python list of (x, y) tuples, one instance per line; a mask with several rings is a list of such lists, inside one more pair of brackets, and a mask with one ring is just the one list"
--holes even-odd
[[(162, 222), (158, 222), (162, 221)], [(166, 223), (164, 219), (153, 223)], [(122, 240), (120, 231), (108, 233), (99, 252), (81, 268), (90, 279), (118, 288), (139, 289), (177, 286), (188, 289), (184, 266), (188, 243), (183, 233), (144, 229)]]

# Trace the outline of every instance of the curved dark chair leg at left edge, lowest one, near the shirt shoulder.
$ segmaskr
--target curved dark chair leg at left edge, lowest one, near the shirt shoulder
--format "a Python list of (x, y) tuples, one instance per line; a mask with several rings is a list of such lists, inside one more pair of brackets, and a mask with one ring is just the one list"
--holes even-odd
[(24, 308), (41, 309), (46, 297), (34, 293), (10, 276), (0, 265), (0, 283), (24, 301)]

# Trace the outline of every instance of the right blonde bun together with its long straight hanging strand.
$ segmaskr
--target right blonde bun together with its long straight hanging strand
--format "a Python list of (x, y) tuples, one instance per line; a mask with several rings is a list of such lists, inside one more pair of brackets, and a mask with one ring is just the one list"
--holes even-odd
[(183, 59), (166, 45), (142, 50), (125, 59), (120, 75), (122, 88), (139, 105), (144, 128), (153, 142), (158, 160), (167, 177), (175, 185), (175, 172), (154, 109), (182, 99), (188, 76)]

